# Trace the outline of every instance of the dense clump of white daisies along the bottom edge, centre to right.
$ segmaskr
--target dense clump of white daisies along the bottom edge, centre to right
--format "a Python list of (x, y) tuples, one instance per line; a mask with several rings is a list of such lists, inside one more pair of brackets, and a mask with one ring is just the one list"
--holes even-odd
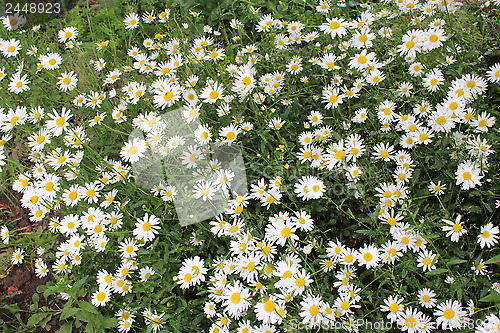
[[(359, 268), (393, 265), (408, 249), (413, 252), (422, 249), (419, 266), (423, 266), (424, 271), (435, 263), (435, 255), (425, 250), (425, 240), (415, 232), (404, 232), (404, 227), (395, 231), (396, 240), (388, 241), (381, 249), (365, 245), (354, 250), (338, 240), (330, 241), (321, 266), (313, 269), (314, 272), (333, 271), (330, 274), (335, 276), (332, 290), (336, 297), (328, 302), (321, 291), (318, 293), (313, 287), (313, 274), (307, 271), (306, 263), (293, 246), (300, 236), (314, 228), (313, 219), (304, 211), (293, 212), (293, 215), (280, 212), (269, 217), (262, 238), (247, 231), (238, 218), (226, 221), (220, 216), (210, 224), (214, 235), (230, 238), (230, 253), (211, 264), (213, 274), (209, 278), (205, 261), (198, 256), (186, 259), (177, 275), (180, 288), (207, 280), (209, 296), (204, 311), (214, 320), (210, 332), (230, 332), (231, 327), (250, 332), (275, 332), (297, 307), (295, 315), (300, 316), (304, 328), (338, 327), (335, 325), (340, 322), (348, 331), (362, 329), (356, 327), (354, 312), (361, 307), (362, 299), (362, 286), (357, 285), (355, 279)], [(316, 248), (315, 242), (304, 246), (302, 251), (310, 254), (313, 248)], [(311, 268), (311, 263), (307, 268)], [(454, 281), (448, 277), (447, 283)], [(408, 332), (471, 325), (469, 316), (475, 311), (472, 301), (463, 309), (460, 302), (446, 300), (446, 295), (440, 302), (436, 296), (438, 294), (429, 288), (422, 288), (414, 295), (422, 308), (435, 309), (435, 321), (423, 311), (405, 306), (404, 298), (397, 295), (387, 297), (380, 310), (387, 312), (390, 322)], [(259, 324), (256, 325), (255, 320)], [(231, 326), (233, 322), (235, 325)]]

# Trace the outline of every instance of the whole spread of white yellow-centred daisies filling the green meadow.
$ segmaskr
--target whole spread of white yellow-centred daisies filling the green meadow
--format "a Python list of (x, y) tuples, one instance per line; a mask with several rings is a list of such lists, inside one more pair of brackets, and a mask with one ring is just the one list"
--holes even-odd
[[(71, 101), (47, 108), (29, 103), (0, 107), (0, 170), (10, 154), (10, 142), (23, 137), (29, 163), (12, 188), (20, 193), (31, 221), (46, 221), (49, 230), (61, 236), (54, 248), (36, 250), (37, 276), (72, 276), (83, 257), (102, 253), (114, 256), (116, 262), (96, 272), (89, 295), (95, 306), (111, 306), (111, 300), (119, 302), (134, 294), (137, 284), (147, 284), (155, 271), (139, 253), (154, 251), (150, 246), (166, 231), (164, 221), (147, 209), (127, 210), (134, 198), (125, 197), (119, 188), (132, 184), (146, 186), (161, 203), (175, 204), (179, 219), (181, 198), (206, 203), (198, 206), (202, 210), (224, 203), (222, 211), (208, 216), (215, 219), (206, 236), (227, 244), (227, 255), (185, 259), (175, 276), (179, 288), (202, 288), (208, 293), (204, 313), (212, 320), (209, 332), (280, 332), (297, 318), (307, 329), (340, 323), (349, 331), (362, 330), (356, 326), (365, 304), (361, 273), (396, 270), (403, 258), (421, 272), (446, 267), (448, 259), (427, 240), (425, 229), (410, 223), (404, 207), (414, 195), (414, 173), (426, 170), (421, 155), (431, 155), (434, 148), (429, 147), (437, 143), (451, 161), (443, 168), (454, 169), (452, 176), (425, 185), (434, 198), (441, 200), (449, 189), (466, 191), (484, 184), (489, 157), (495, 153), (491, 138), (496, 119), (490, 111), (477, 108), (488, 85), (500, 82), (500, 64), (490, 66), (485, 75), (451, 77), (453, 71), (448, 69), (466, 50), (456, 47), (443, 17), (456, 12), (458, 2), (385, 3), (380, 11), (362, 5), (360, 16), (347, 20), (330, 14), (333, 3), (319, 1), (316, 13), (308, 12), (318, 20), (316, 25), (287, 22), (250, 8), (256, 24), (231, 20), (229, 48), (226, 40), (221, 42), (222, 33), (209, 25), (201, 36), (147, 35), (127, 50), (122, 66), (92, 59), (87, 70), (94, 72), (100, 86), (91, 89), (81, 84), (62, 54), (39, 51), (22, 38), (0, 39), (0, 53), (8, 60), (7, 69), (0, 68), (0, 85), (5, 78), (9, 98), (27, 97), (32, 80), (43, 77)], [(403, 32), (394, 28), (401, 15), (411, 22)], [(167, 24), (170, 16), (168, 9), (130, 13), (123, 20), (124, 30), (144, 24), (161, 31), (158, 24)], [(9, 31), (20, 29), (25, 21), (20, 15), (2, 18)], [(246, 28), (256, 30), (262, 41), (243, 44)], [(69, 53), (81, 44), (75, 27), (61, 29), (56, 37)], [(93, 42), (97, 53), (109, 44)], [(385, 45), (394, 47), (382, 53)], [(405, 72), (395, 74), (395, 63), (403, 64)], [(405, 79), (397, 82), (400, 77)], [(284, 112), (299, 99), (305, 110), (302, 118), (307, 118), (302, 124), (287, 119)], [(346, 115), (344, 106), (353, 104), (362, 107)], [(202, 119), (218, 125), (209, 126)], [(110, 147), (113, 157), (99, 157), (94, 163), (97, 154), (88, 155), (98, 132), (115, 135), (130, 128), (127, 125), (138, 135), (120, 138)], [(277, 173), (259, 177), (247, 190), (238, 186), (242, 177), (234, 163), (216, 154), (221, 147), (246, 142), (253, 149), (256, 136), (264, 133), (276, 141), (274, 137), (281, 139), (286, 130), (294, 131), (298, 145), (290, 151), (280, 145), (282, 159), (287, 156), (286, 162), (306, 166), (314, 176), (289, 179), (286, 172)], [(373, 143), (368, 133), (384, 139)], [(181, 180), (150, 177), (141, 184), (141, 168), (158, 160), (167, 161), (169, 172)], [(374, 167), (379, 170), (376, 175)], [(165, 176), (165, 170), (160, 171)], [(316, 239), (320, 233), (315, 233), (315, 212), (308, 204), (323, 204), (331, 183), (328, 175), (372, 204), (375, 219), (388, 225), (381, 236), (384, 243), (355, 248), (339, 239)], [(361, 191), (365, 181), (374, 180), (372, 193)], [(257, 205), (264, 208), (258, 218), (267, 219), (262, 228), (252, 227), (258, 219), (252, 215)], [(454, 220), (441, 219), (438, 231), (443, 239), (458, 243), (475, 228), (460, 214), (452, 216)], [(481, 250), (489, 251), (498, 243), (500, 230), (495, 223), (480, 226), (476, 239)], [(0, 233), (8, 244), (11, 231), (2, 226)], [(191, 243), (199, 246), (203, 240), (195, 233)], [(484, 252), (482, 257), (489, 255)], [(24, 256), (25, 250), (16, 248), (12, 262), (22, 263)], [(467, 270), (473, 276), (491, 273), (483, 259)], [(447, 274), (444, 283), (454, 284), (457, 276)], [(321, 281), (328, 276), (334, 282), (325, 291)], [(71, 288), (66, 287), (66, 291)], [(500, 290), (498, 283), (487, 287)], [(70, 297), (67, 292), (61, 296)], [(472, 301), (465, 308), (430, 288), (413, 296), (405, 301), (401, 295), (391, 295), (380, 308), (402, 331), (460, 329), (476, 312)], [(417, 300), (422, 311), (413, 306)], [(139, 316), (152, 331), (166, 324), (165, 313), (152, 308), (121, 307), (115, 314), (120, 332), (141, 326), (136, 322)], [(497, 322), (498, 317), (490, 314), (477, 330), (487, 331)]]

